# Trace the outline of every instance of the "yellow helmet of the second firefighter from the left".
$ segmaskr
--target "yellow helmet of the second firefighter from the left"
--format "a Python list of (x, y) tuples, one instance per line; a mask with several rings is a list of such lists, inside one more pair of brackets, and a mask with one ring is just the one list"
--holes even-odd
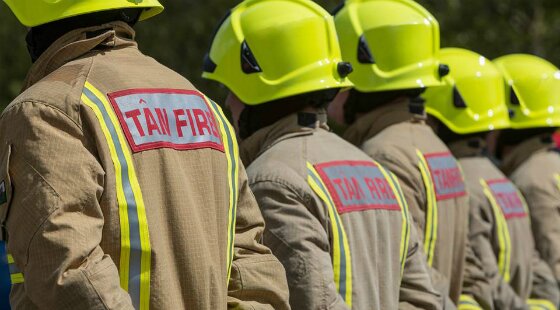
[(202, 76), (257, 105), (352, 86), (332, 16), (309, 0), (247, 0), (219, 27)]

